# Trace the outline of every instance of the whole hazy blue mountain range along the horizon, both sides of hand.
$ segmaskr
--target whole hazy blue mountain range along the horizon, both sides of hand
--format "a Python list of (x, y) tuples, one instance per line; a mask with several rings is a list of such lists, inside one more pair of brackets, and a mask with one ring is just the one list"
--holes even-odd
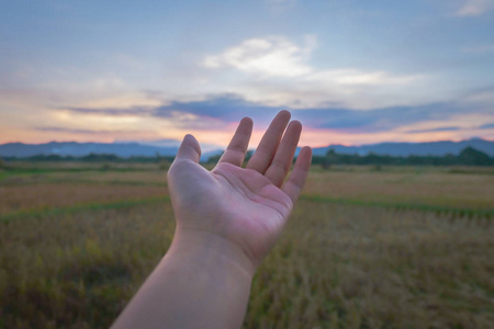
[[(82, 157), (89, 154), (115, 155), (122, 158), (132, 156), (155, 157), (175, 156), (178, 150), (179, 141), (176, 145), (167, 146), (150, 145), (144, 143), (76, 143), (76, 141), (50, 141), (46, 144), (23, 144), (9, 143), (0, 145), (0, 157), (26, 158), (37, 155), (58, 155)], [(472, 138), (462, 141), (428, 141), (428, 143), (380, 143), (361, 146), (329, 145), (326, 147), (314, 148), (315, 156), (324, 156), (327, 150), (334, 149), (337, 154), (377, 155), (389, 156), (444, 156), (447, 154), (458, 155), (467, 147), (475, 148), (480, 151), (494, 157), (494, 140)], [(211, 156), (221, 154), (221, 147), (212, 149), (202, 155), (205, 160)]]

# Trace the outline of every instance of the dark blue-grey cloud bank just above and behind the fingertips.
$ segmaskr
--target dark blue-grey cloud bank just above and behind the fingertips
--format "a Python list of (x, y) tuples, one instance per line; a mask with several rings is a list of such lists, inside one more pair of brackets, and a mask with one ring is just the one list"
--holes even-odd
[[(181, 113), (190, 116), (192, 121), (201, 123), (203, 127), (214, 122), (217, 126), (228, 126), (238, 122), (243, 116), (251, 116), (256, 126), (266, 127), (274, 114), (280, 110), (278, 106), (263, 105), (243, 99), (236, 94), (224, 94), (210, 97), (202, 101), (172, 102), (169, 105), (155, 110), (155, 115), (169, 117), (170, 113)], [(300, 120), (308, 128), (332, 129), (347, 133), (377, 133), (392, 131), (418, 124), (424, 121), (447, 122), (448, 118), (461, 113), (469, 113), (467, 107), (454, 104), (437, 103), (422, 106), (402, 106), (373, 109), (359, 111), (341, 107), (324, 109), (290, 109), (293, 118)], [(205, 123), (205, 124), (202, 124)], [(427, 129), (436, 129), (427, 128)], [(445, 128), (442, 128), (445, 131)], [(448, 129), (451, 129), (449, 127)], [(439, 132), (439, 129), (437, 131)]]

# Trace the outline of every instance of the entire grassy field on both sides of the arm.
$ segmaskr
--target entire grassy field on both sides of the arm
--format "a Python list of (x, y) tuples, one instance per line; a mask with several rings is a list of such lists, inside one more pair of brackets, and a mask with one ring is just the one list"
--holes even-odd
[[(0, 170), (0, 328), (109, 327), (171, 241), (166, 186), (158, 164)], [(314, 168), (244, 328), (492, 328), (493, 220), (493, 168)]]

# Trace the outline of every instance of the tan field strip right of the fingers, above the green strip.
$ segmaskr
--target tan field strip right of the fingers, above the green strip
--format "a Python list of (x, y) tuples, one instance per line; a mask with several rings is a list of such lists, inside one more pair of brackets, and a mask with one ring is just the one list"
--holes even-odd
[(458, 174), (437, 169), (319, 170), (310, 175), (305, 193), (339, 200), (492, 209), (494, 174)]

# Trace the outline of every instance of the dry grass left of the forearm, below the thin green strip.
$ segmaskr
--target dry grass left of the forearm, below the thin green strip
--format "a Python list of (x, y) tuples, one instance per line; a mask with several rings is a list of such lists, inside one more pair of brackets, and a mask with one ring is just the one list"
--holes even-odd
[(108, 328), (165, 253), (168, 204), (0, 227), (0, 328)]

